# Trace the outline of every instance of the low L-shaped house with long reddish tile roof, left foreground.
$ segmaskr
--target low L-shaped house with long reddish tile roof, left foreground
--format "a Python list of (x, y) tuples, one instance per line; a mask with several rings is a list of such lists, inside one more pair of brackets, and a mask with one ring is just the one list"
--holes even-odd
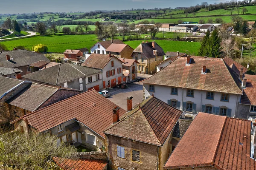
[[(103, 130), (112, 124), (112, 109), (116, 105), (95, 90), (72, 96), (12, 121), (17, 130), (29, 130), (58, 136), (57, 142), (92, 150), (104, 148)], [(119, 109), (120, 115), (125, 110)], [(44, 123), (41, 123), (44, 122)]]

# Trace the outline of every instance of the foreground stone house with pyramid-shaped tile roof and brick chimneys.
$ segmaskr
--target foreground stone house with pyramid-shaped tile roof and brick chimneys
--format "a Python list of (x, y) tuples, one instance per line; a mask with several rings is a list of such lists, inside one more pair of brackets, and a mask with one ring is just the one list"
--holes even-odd
[(114, 111), (113, 125), (104, 131), (111, 168), (162, 170), (172, 152), (173, 129), (182, 113), (154, 96), (122, 117)]

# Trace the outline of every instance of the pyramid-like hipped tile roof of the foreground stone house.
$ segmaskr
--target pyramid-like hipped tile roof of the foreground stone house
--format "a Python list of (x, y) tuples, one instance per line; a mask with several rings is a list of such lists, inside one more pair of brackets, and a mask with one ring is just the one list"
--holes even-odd
[(104, 131), (106, 134), (121, 136), (155, 145), (162, 145), (183, 112), (151, 97), (141, 108)]

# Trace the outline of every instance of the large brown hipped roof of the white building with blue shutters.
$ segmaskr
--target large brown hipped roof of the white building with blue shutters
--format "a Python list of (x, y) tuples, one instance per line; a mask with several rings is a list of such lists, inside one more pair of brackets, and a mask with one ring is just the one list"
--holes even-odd
[[(191, 56), (190, 65), (186, 65), (186, 60), (187, 57), (179, 57), (152, 77), (141, 82), (229, 94), (242, 94), (223, 60)], [(207, 66), (207, 74), (201, 74), (204, 65)]]

